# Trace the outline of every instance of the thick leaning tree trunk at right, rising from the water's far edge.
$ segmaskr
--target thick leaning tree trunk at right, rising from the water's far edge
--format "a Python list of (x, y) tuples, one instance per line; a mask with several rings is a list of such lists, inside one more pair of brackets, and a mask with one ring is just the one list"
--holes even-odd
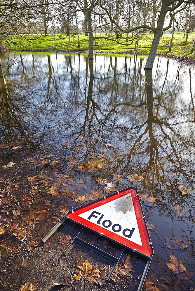
[(156, 57), (156, 52), (159, 46), (159, 41), (161, 36), (163, 35), (163, 26), (164, 26), (164, 20), (165, 20), (165, 16), (166, 16), (166, 8), (167, 8), (167, 3), (166, 1), (162, 1), (162, 6), (161, 6), (161, 11), (160, 11), (160, 15), (159, 15), (159, 19), (158, 19), (158, 23), (157, 23), (157, 27), (156, 27), (156, 31), (154, 32), (154, 38), (152, 41), (152, 46), (150, 49), (150, 53), (147, 59), (147, 63), (145, 66), (145, 69), (152, 69), (153, 64), (154, 64), (154, 60)]

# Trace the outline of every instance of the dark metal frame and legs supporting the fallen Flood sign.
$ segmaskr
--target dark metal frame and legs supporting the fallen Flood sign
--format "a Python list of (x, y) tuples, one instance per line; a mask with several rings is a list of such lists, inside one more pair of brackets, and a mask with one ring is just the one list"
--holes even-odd
[[(72, 212), (74, 212), (74, 211), (76, 211), (76, 210), (79, 210), (79, 209), (81, 209), (81, 208), (83, 208), (83, 207), (86, 207), (86, 206), (88, 206), (88, 205), (94, 204), (94, 203), (96, 203), (97, 201), (101, 201), (101, 200), (106, 199), (106, 198), (108, 198), (108, 197), (110, 197), (110, 196), (113, 196), (113, 195), (115, 195), (115, 194), (119, 194), (120, 192), (126, 191), (126, 190), (128, 190), (128, 189), (134, 189), (134, 190), (136, 191), (136, 193), (137, 193), (136, 196), (137, 196), (137, 198), (138, 198), (138, 200), (139, 200), (140, 207), (141, 207), (141, 211), (142, 211), (142, 215), (143, 215), (142, 219), (144, 219), (145, 226), (146, 226), (146, 230), (147, 230), (147, 235), (148, 235), (148, 238), (149, 238), (149, 245), (151, 246), (151, 249), (152, 249), (152, 255), (150, 255), (150, 256), (144, 255), (144, 254), (140, 253), (139, 251), (136, 251), (135, 249), (132, 249), (132, 248), (130, 248), (130, 247), (124, 245), (124, 244), (121, 244), (121, 243), (119, 243), (119, 242), (116, 242), (114, 239), (111, 239), (110, 237), (107, 237), (107, 236), (105, 236), (105, 235), (103, 235), (103, 234), (100, 234), (99, 232), (97, 232), (97, 231), (95, 231), (95, 230), (93, 230), (93, 229), (91, 229), (91, 228), (89, 228), (89, 227), (87, 227), (87, 226), (83, 226), (81, 223), (79, 223), (79, 222), (77, 222), (77, 221), (74, 221), (73, 219), (70, 219), (70, 218), (68, 217), (68, 214), (69, 214), (69, 213), (72, 213)], [(149, 232), (148, 232), (148, 228), (147, 228), (147, 224), (146, 224), (146, 220), (145, 220), (144, 212), (143, 212), (143, 209), (142, 209), (142, 205), (141, 205), (140, 197), (139, 197), (139, 194), (138, 194), (138, 191), (137, 191), (137, 188), (136, 188), (136, 187), (127, 187), (127, 188), (124, 188), (124, 189), (122, 189), (122, 190), (120, 190), (120, 191), (116, 191), (116, 192), (114, 192), (114, 193), (112, 193), (112, 194), (109, 194), (109, 195), (107, 195), (107, 196), (104, 196), (104, 197), (102, 197), (102, 198), (98, 198), (98, 199), (96, 199), (96, 200), (93, 200), (92, 202), (87, 203), (87, 204), (85, 204), (85, 205), (83, 205), (83, 206), (80, 206), (80, 207), (77, 207), (77, 208), (75, 208), (75, 209), (73, 209), (73, 210), (70, 210), (70, 211), (67, 212), (67, 214), (66, 214), (64, 217), (62, 217), (62, 219), (61, 219), (61, 220), (60, 220), (60, 221), (59, 221), (59, 222), (58, 222), (58, 223), (57, 223), (57, 224), (56, 224), (56, 225), (55, 225), (55, 226), (54, 226), (54, 227), (53, 227), (53, 228), (52, 228), (52, 229), (47, 233), (47, 235), (46, 235), (45, 237), (43, 237), (42, 241), (43, 241), (43, 242), (46, 242), (47, 239), (48, 239), (49, 237), (51, 237), (51, 235), (55, 232), (55, 230), (57, 230), (57, 229), (62, 225), (62, 223), (63, 223), (66, 219), (71, 220), (71, 221), (73, 221), (74, 223), (83, 226), (83, 228), (82, 228), (81, 231), (78, 233), (78, 235), (73, 239), (73, 241), (71, 242), (71, 244), (69, 244), (69, 246), (67, 247), (67, 249), (66, 249), (65, 252), (64, 252), (65, 255), (67, 255), (67, 254), (69, 253), (69, 251), (73, 248), (73, 246), (74, 246), (76, 243), (79, 243), (79, 244), (81, 244), (81, 245), (87, 247), (88, 249), (90, 249), (90, 250), (92, 250), (92, 251), (95, 251), (96, 253), (98, 253), (98, 254), (104, 256), (105, 258), (111, 260), (112, 262), (114, 262), (114, 265), (112, 266), (112, 269), (111, 269), (111, 271), (110, 271), (110, 273), (109, 273), (109, 275), (108, 275), (108, 277), (107, 277), (107, 280), (109, 281), (110, 278), (112, 277), (112, 274), (113, 274), (113, 272), (114, 272), (114, 270), (115, 270), (117, 264), (119, 263), (119, 260), (120, 260), (120, 258), (121, 258), (121, 256), (122, 256), (124, 250), (125, 250), (125, 249), (130, 249), (130, 250), (133, 251), (134, 253), (137, 253), (137, 254), (141, 255), (142, 257), (147, 258), (147, 262), (146, 262), (146, 265), (145, 265), (145, 268), (144, 268), (144, 272), (143, 272), (143, 274), (142, 274), (142, 277), (141, 277), (141, 280), (140, 280), (140, 284), (139, 284), (139, 286), (138, 286), (138, 288), (137, 288), (137, 291), (141, 291), (141, 290), (142, 290), (143, 285), (144, 285), (144, 281), (145, 281), (145, 278), (146, 278), (146, 276), (147, 276), (147, 272), (148, 272), (148, 270), (149, 270), (149, 266), (150, 266), (150, 263), (151, 263), (151, 260), (152, 260), (152, 257), (153, 257), (154, 250), (153, 250), (153, 247), (152, 247), (152, 242), (151, 242), (151, 239), (150, 239), (150, 236), (149, 236)], [(109, 240), (115, 242), (116, 244), (121, 245), (121, 251), (119, 252), (119, 255), (117, 256), (117, 258), (114, 257), (114, 256), (112, 256), (112, 255), (110, 255), (109, 253), (106, 253), (105, 251), (102, 251), (101, 249), (99, 249), (99, 248), (97, 248), (97, 247), (95, 247), (95, 246), (93, 246), (93, 245), (87, 243), (87, 242), (84, 241), (83, 239), (81, 239), (80, 237), (82, 236), (82, 234), (83, 234), (83, 232), (85, 231), (85, 229), (89, 229), (89, 230), (93, 231), (94, 233), (97, 233), (97, 234), (99, 234), (99, 235), (101, 235), (101, 236), (103, 236), (103, 237), (105, 237), (105, 238), (107, 238), (107, 239), (109, 239)]]

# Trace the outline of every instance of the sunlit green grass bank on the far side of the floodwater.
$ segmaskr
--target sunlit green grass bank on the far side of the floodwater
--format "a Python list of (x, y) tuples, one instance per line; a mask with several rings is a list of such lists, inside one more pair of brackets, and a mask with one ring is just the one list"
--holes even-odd
[[(195, 33), (194, 33), (195, 34)], [(100, 36), (98, 34), (97, 36)], [(171, 54), (174, 56), (190, 56), (195, 57), (195, 52), (190, 54), (191, 47), (193, 45), (193, 40), (190, 38), (188, 42), (185, 43), (185, 39), (183, 36), (179, 34), (175, 34), (173, 38), (172, 51), (168, 52), (169, 43), (170, 43), (170, 33), (165, 33), (164, 36), (161, 37), (157, 54)], [(114, 35), (112, 35), (114, 38)], [(153, 38), (153, 35), (152, 35)], [(152, 38), (149, 33), (145, 33), (142, 35), (142, 39), (139, 40), (138, 44), (138, 54), (149, 54), (150, 47), (152, 45)], [(10, 36), (7, 39), (7, 46), (10, 47), (11, 50), (39, 50), (39, 51), (88, 51), (88, 37), (84, 36), (84, 34), (79, 35), (80, 39), (80, 48), (77, 47), (77, 36), (73, 36), (69, 38), (69, 36), (64, 34), (56, 35), (56, 45), (57, 49), (55, 49), (54, 36), (49, 35), (47, 37), (41, 35), (23, 35), (23, 36)], [(69, 42), (70, 40), (70, 42)], [(124, 44), (128, 44), (131, 42), (131, 38), (129, 38), (129, 42), (126, 42), (125, 39), (119, 39), (120, 42)], [(94, 45), (94, 52), (98, 53), (135, 53), (135, 40), (132, 45), (122, 45), (117, 44), (112, 40), (106, 40), (106, 46), (104, 45), (104, 39), (96, 40), (97, 45)], [(95, 44), (95, 41), (94, 41)]]

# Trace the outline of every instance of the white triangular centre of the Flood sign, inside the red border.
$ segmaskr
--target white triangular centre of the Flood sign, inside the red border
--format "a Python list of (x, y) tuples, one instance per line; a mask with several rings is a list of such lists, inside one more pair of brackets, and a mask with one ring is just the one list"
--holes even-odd
[[(99, 214), (96, 212), (98, 212)], [(100, 205), (92, 210), (83, 212), (78, 216), (142, 246), (131, 194), (127, 194), (116, 200)], [(102, 219), (99, 221), (99, 223), (97, 223), (101, 216)], [(109, 221), (106, 221), (104, 223), (105, 220), (109, 220), (112, 223), (111, 226), (109, 226)], [(102, 223), (105, 225), (105, 227), (102, 225)], [(121, 226), (121, 230), (119, 232), (117, 232), (117, 230), (119, 230), (120, 226), (115, 226), (115, 231), (112, 229), (114, 224), (118, 224)], [(130, 231), (128, 230), (124, 232), (126, 236), (123, 235), (123, 230), (132, 230), (133, 228), (135, 229), (133, 230), (133, 234), (130, 238), (128, 237), (128, 235), (130, 234)]]

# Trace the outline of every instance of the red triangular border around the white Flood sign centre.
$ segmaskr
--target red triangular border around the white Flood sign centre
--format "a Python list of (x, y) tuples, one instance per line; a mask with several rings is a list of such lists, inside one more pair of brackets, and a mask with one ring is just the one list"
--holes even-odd
[[(117, 235), (116, 233), (113, 233), (106, 228), (98, 226), (95, 223), (78, 216), (79, 214), (81, 214), (83, 212), (92, 210), (95, 207), (98, 207), (100, 205), (111, 202), (111, 201), (113, 201), (117, 198), (120, 198), (122, 196), (125, 196), (127, 194), (131, 194), (131, 197), (133, 200), (133, 206), (134, 206), (135, 215), (137, 218), (137, 225), (138, 225), (138, 228), (140, 231), (142, 246), (140, 246), (134, 242), (131, 242), (130, 240), (126, 239), (125, 237), (123, 238), (120, 235)], [(82, 226), (89, 228), (90, 230), (92, 230), (96, 233), (102, 234), (104, 237), (107, 237), (108, 239), (111, 239), (112, 241), (115, 241), (123, 246), (128, 247), (129, 249), (135, 251), (136, 253), (140, 253), (140, 254), (147, 256), (147, 257), (152, 255), (153, 249), (151, 246), (150, 237), (149, 237), (149, 233), (147, 230), (147, 225), (146, 225), (145, 219), (143, 217), (143, 211), (142, 211), (142, 207), (140, 204), (140, 199), (138, 197), (137, 189), (134, 187), (129, 187), (129, 188), (123, 189), (120, 192), (116, 192), (116, 193), (113, 193), (109, 196), (106, 196), (105, 198), (106, 199), (104, 199), (104, 198), (98, 199), (92, 203), (89, 203), (87, 205), (76, 208), (73, 210), (74, 212), (71, 212), (71, 211), (68, 212), (67, 218), (82, 225)], [(93, 230), (94, 227), (95, 227), (95, 230)], [(103, 232), (102, 232), (102, 230), (103, 230)]]

